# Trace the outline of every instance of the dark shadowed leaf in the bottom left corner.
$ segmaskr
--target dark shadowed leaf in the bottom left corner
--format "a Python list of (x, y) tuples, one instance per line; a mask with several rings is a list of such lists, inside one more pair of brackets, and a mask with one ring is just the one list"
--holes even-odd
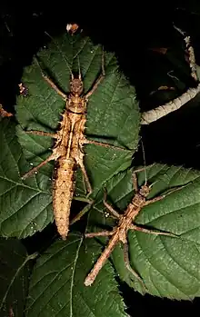
[[(0, 239), (0, 316), (23, 316), (28, 289), (29, 260), (25, 247), (15, 239)], [(12, 316), (13, 316), (12, 315)]]

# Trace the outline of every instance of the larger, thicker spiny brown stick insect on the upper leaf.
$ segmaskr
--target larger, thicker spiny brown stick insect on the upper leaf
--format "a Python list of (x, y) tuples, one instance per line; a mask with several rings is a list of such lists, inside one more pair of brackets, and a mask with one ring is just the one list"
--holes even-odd
[[(125, 150), (111, 144), (105, 144), (93, 140), (88, 140), (85, 137), (85, 122), (86, 122), (86, 106), (88, 98), (95, 93), (98, 85), (102, 83), (105, 78), (105, 55), (104, 50), (102, 53), (102, 73), (99, 75), (91, 90), (84, 94), (84, 84), (80, 73), (75, 78), (71, 73), (70, 92), (63, 93), (55, 83), (42, 71), (41, 73), (47, 84), (49, 84), (55, 92), (59, 94), (65, 101), (65, 111), (62, 114), (63, 120), (60, 124), (59, 130), (55, 134), (45, 133), (42, 131), (26, 131), (28, 134), (37, 134), (50, 136), (56, 140), (53, 153), (45, 159), (42, 163), (32, 168), (29, 172), (25, 173), (22, 178), (25, 179), (48, 163), (55, 160), (55, 176), (53, 183), (53, 209), (55, 213), (55, 224), (57, 231), (65, 240), (69, 230), (69, 215), (70, 208), (75, 192), (75, 172), (77, 167), (81, 171), (85, 180), (85, 187), (88, 195), (92, 193), (92, 186), (87, 176), (84, 164), (84, 144), (95, 144), (104, 147), (111, 147), (118, 150)], [(77, 219), (77, 218), (76, 218)], [(79, 219), (79, 218), (78, 218)]]

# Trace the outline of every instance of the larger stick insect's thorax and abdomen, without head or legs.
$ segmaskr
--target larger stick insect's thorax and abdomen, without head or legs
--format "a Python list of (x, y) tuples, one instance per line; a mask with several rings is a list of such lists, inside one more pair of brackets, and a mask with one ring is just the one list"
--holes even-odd
[[(69, 109), (73, 106), (75, 111), (81, 108), (80, 104), (75, 107), (75, 104), (69, 103), (68, 106)], [(82, 108), (85, 108), (83, 100)], [(78, 165), (82, 167), (84, 160), (84, 153), (81, 150), (85, 121), (85, 114), (70, 113), (66, 110), (63, 114), (62, 128), (59, 131), (60, 143), (56, 144), (63, 147), (65, 151), (56, 161), (53, 186), (55, 224), (64, 240), (68, 234), (69, 214), (75, 192), (75, 171)]]

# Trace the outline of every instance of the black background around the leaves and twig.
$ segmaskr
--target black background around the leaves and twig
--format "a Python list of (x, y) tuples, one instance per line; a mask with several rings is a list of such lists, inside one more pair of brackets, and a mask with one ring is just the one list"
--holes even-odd
[[(15, 96), (25, 65), (31, 64), (33, 54), (45, 45), (45, 31), (51, 35), (64, 32), (67, 23), (77, 23), (95, 43), (115, 51), (125, 75), (135, 85), (141, 111), (174, 99), (188, 87), (195, 86), (185, 62), (183, 37), (177, 35), (173, 23), (191, 36), (196, 63), (200, 64), (200, 5), (199, 1), (173, 1), (132, 6), (127, 3), (111, 5), (94, 2), (91, 5), (56, 1), (47, 7), (17, 2), (0, 5), (0, 103), (9, 112), (15, 112)], [(122, 6), (122, 4), (124, 6)], [(169, 54), (155, 52), (154, 48), (168, 48)], [(173, 62), (172, 62), (173, 61)], [(179, 61), (182, 61), (179, 63)], [(181, 64), (181, 65), (180, 65)], [(179, 79), (172, 81), (167, 72)], [(175, 85), (174, 92), (157, 92), (161, 85)], [(146, 163), (183, 164), (200, 168), (200, 96), (185, 104), (179, 111), (157, 122), (142, 126)], [(143, 163), (141, 151), (135, 160)], [(55, 228), (25, 241), (29, 252), (35, 251), (41, 239), (52, 237)], [(193, 314), (199, 300), (177, 302), (150, 295), (142, 297), (122, 285), (121, 292), (132, 316), (140, 314)]]

